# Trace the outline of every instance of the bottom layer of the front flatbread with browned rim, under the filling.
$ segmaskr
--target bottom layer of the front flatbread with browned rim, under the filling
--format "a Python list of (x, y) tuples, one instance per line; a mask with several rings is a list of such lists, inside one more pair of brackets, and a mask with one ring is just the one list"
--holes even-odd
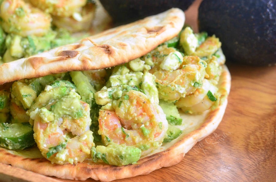
[(0, 161), (46, 176), (63, 179), (86, 180), (93, 178), (101, 181), (145, 175), (161, 167), (169, 167), (180, 162), (184, 155), (200, 140), (211, 134), (223, 118), (227, 106), (227, 96), (230, 92), (231, 76), (227, 67), (223, 71), (218, 84), (221, 94), (221, 104), (212, 111), (201, 115), (186, 115), (180, 111), (183, 118), (180, 129), (183, 133), (170, 143), (163, 144), (148, 156), (140, 158), (136, 164), (127, 166), (111, 166), (95, 164), (87, 159), (76, 165), (52, 164), (43, 158), (38, 148), (33, 147), (23, 151), (11, 151), (0, 147)]

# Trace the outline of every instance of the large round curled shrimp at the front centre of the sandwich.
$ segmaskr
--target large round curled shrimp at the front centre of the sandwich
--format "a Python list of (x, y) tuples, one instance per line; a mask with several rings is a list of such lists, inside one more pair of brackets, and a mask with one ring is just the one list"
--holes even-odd
[[(132, 89), (120, 90), (120, 87), (116, 87), (118, 90), (114, 92), (115, 95), (120, 92), (120, 98), (109, 100), (99, 112), (98, 133), (105, 145), (134, 146), (145, 155), (162, 145), (168, 129), (166, 115), (144, 93)], [(105, 92), (101, 90), (95, 94), (96, 102), (97, 97), (105, 95)]]

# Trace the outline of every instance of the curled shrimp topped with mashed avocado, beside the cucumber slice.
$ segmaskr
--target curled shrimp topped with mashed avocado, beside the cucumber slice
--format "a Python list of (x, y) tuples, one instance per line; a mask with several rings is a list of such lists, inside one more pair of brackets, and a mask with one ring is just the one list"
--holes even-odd
[(75, 164), (91, 157), (90, 149), (95, 144), (89, 130), (90, 107), (79, 99), (77, 93), (70, 92), (69, 96), (31, 113), (37, 147), (51, 162)]

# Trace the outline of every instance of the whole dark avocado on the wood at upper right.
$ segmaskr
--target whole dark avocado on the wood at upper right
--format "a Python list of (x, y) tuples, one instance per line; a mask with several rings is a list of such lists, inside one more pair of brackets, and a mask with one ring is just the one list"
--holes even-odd
[(227, 60), (250, 65), (276, 64), (274, 0), (204, 0), (199, 31), (215, 34)]

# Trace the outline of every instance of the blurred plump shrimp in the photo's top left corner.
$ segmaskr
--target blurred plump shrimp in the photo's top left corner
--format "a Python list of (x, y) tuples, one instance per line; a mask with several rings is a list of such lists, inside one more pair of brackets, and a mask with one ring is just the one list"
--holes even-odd
[(51, 16), (22, 0), (4, 0), (0, 6), (1, 26), (8, 33), (26, 37), (43, 36), (51, 27)]

